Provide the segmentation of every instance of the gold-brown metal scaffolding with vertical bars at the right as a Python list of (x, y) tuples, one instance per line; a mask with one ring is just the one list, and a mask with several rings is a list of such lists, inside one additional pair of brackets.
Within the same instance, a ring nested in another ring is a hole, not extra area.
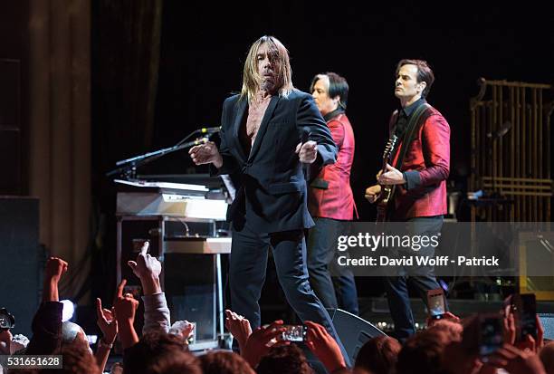
[(482, 207), (479, 217), (486, 221), (550, 221), (552, 86), (484, 78), (478, 84), (481, 90), (470, 101), (469, 187), (499, 201)]

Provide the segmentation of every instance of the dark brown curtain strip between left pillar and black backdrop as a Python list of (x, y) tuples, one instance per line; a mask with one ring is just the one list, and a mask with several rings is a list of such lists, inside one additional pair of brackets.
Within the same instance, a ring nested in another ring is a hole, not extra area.
[(116, 188), (105, 173), (121, 158), (156, 147), (161, 0), (92, 2), (93, 293), (110, 300), (116, 263)]

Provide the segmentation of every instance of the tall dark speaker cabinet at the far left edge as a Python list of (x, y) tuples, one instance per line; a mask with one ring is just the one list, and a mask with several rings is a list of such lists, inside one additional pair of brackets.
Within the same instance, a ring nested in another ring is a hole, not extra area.
[(31, 322), (39, 305), (39, 200), (0, 197), (0, 308), (15, 317), (14, 334), (31, 338)]

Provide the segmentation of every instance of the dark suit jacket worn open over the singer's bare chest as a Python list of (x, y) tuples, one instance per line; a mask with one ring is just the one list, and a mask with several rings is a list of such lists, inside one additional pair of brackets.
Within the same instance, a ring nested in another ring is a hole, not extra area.
[(265, 110), (260, 129), (249, 155), (244, 154), (239, 139), (240, 126), (247, 114), (248, 102), (234, 95), (224, 101), (221, 145), (223, 157), (220, 174), (238, 174), (242, 180), (227, 220), (235, 229), (248, 222), (260, 233), (309, 228), (306, 182), (301, 162), (294, 151), (304, 128), (310, 140), (318, 143), (318, 161), (335, 162), (337, 147), (325, 120), (311, 96), (294, 90), (288, 97), (273, 96)]

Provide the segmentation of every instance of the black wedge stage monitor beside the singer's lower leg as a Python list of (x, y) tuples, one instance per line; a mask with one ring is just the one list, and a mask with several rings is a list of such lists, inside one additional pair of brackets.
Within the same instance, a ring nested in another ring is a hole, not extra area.
[(352, 365), (356, 361), (358, 351), (366, 341), (377, 338), (377, 336), (387, 335), (357, 315), (341, 309), (328, 309), (327, 311)]

